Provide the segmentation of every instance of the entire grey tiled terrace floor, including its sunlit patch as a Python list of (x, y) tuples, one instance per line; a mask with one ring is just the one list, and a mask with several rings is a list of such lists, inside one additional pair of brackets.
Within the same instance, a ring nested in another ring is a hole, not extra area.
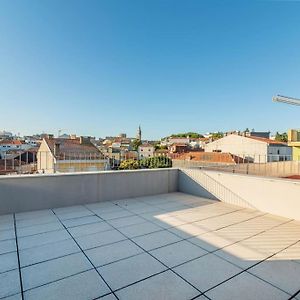
[(300, 299), (300, 223), (174, 193), (0, 217), (1, 299)]

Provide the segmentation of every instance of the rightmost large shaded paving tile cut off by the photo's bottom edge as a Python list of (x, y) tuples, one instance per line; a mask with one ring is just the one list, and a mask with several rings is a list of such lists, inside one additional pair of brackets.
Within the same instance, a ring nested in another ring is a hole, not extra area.
[(244, 272), (206, 293), (214, 300), (287, 300), (289, 295)]

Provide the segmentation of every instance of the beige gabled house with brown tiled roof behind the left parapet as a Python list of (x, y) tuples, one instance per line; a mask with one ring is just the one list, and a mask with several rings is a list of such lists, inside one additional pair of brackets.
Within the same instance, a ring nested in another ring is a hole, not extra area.
[(87, 137), (44, 138), (37, 152), (39, 173), (102, 171), (106, 165), (103, 154)]

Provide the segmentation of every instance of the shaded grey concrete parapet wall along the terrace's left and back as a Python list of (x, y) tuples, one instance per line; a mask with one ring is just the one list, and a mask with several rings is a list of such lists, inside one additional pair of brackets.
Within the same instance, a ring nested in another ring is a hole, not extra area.
[(0, 214), (177, 191), (177, 169), (0, 176)]

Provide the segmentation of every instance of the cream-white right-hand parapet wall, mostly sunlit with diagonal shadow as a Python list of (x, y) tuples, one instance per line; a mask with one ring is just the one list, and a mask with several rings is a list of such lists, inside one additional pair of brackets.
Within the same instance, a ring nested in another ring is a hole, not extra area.
[(300, 220), (299, 180), (182, 169), (179, 191), (188, 193), (189, 181), (201, 187), (192, 190), (195, 195), (206, 197), (209, 192), (223, 202)]

